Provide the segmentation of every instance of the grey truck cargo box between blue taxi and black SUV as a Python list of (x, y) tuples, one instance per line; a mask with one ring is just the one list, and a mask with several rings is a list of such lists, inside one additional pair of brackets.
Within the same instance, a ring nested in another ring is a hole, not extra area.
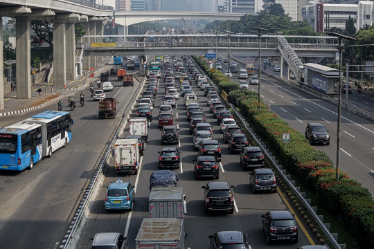
[(150, 218), (183, 218), (183, 187), (154, 187), (148, 204)]

